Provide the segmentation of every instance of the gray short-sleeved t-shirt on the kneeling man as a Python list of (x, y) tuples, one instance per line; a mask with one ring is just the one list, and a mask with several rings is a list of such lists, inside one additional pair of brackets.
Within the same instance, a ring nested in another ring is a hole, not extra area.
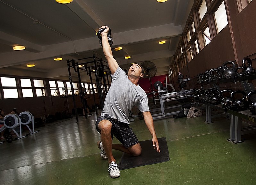
[(113, 119), (129, 124), (129, 113), (134, 106), (137, 106), (141, 112), (149, 111), (145, 91), (133, 84), (120, 67), (111, 76), (113, 79), (101, 116), (109, 115)]

